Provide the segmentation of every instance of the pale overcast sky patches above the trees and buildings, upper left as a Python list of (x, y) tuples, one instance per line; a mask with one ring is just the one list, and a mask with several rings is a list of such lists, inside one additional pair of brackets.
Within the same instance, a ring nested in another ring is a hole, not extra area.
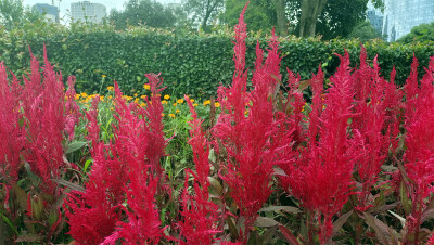
[[(82, 0), (80, 0), (82, 1)], [(112, 9), (117, 9), (117, 10), (122, 10), (124, 3), (127, 0), (90, 0), (90, 2), (95, 2), (95, 3), (102, 3), (107, 8), (107, 14), (110, 13), (110, 11)], [(61, 9), (61, 16), (64, 15), (69, 15), (68, 14), (68, 10), (71, 9), (71, 3), (72, 2), (78, 2), (78, 0), (61, 0), (59, 3), (59, 0), (54, 0), (54, 5), (59, 7), (60, 4), (60, 9)], [(167, 3), (171, 3), (171, 2), (177, 2), (180, 3), (181, 0), (157, 0), (157, 2), (161, 2), (163, 4), (167, 4)], [(30, 5), (33, 7), (36, 3), (49, 3), (52, 4), (53, 0), (24, 0), (23, 1), (24, 5)]]

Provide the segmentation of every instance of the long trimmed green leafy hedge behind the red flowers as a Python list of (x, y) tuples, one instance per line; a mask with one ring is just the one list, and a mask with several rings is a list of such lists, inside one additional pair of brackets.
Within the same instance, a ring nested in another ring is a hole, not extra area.
[[(28, 67), (28, 46), (40, 59), (46, 43), (49, 60), (64, 77), (76, 76), (79, 91), (100, 92), (119, 82), (126, 93), (143, 90), (143, 74), (162, 73), (166, 91), (174, 95), (184, 93), (209, 98), (216, 88), (231, 81), (233, 44), (230, 35), (175, 35), (168, 30), (135, 28), (119, 33), (110, 26), (27, 26), (7, 33), (0, 30), (0, 61), (9, 69), (23, 75)], [(263, 48), (267, 38), (259, 38)], [(246, 64), (253, 69), (256, 39), (247, 41)], [(383, 75), (395, 65), (397, 83), (403, 85), (409, 74), (413, 53), (423, 66), (434, 55), (434, 48), (421, 43), (398, 44), (376, 40), (366, 43), (369, 59), (379, 55)], [(315, 38), (281, 40), (284, 55), (282, 74), (286, 67), (308, 79), (321, 63), (327, 76), (334, 73), (339, 59), (333, 53), (348, 50), (354, 65), (358, 61), (360, 43), (357, 40), (320, 41)], [(41, 60), (41, 59), (40, 59)], [(107, 76), (102, 78), (102, 75)], [(103, 82), (103, 83), (102, 83)], [(129, 92), (128, 92), (129, 91)]]

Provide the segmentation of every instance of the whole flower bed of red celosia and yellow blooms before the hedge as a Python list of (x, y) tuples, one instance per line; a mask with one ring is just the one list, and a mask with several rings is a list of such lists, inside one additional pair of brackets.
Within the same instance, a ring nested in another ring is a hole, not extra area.
[(286, 79), (272, 35), (248, 76), (244, 11), (216, 101), (154, 74), (131, 96), (76, 93), (47, 52), (20, 77), (1, 63), (0, 241), (433, 244), (434, 57), (401, 88), (363, 47)]

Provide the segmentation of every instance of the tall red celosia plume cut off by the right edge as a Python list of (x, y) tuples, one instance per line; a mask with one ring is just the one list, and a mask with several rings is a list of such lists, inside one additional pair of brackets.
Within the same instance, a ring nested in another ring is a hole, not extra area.
[(426, 74), (418, 86), (414, 57), (406, 92), (406, 146), (404, 154), (406, 171), (412, 182), (408, 183), (412, 199), (410, 217), (407, 218), (409, 233), (414, 232), (414, 244), (419, 242), (421, 216), (426, 206), (425, 198), (433, 192), (434, 182), (434, 57), (431, 57)]

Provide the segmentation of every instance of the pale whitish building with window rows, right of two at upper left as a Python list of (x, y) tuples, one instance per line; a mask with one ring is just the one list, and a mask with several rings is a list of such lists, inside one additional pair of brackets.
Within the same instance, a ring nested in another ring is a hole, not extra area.
[(101, 23), (107, 15), (104, 4), (90, 1), (71, 3), (71, 15), (73, 21)]

